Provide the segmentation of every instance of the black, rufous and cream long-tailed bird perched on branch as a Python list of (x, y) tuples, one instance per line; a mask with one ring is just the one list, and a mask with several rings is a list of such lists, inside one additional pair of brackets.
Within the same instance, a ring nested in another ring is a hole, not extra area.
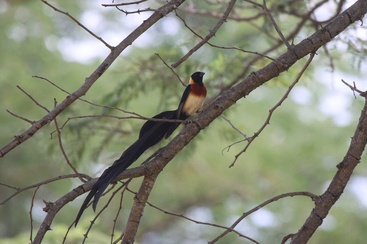
[[(181, 101), (177, 110), (164, 111), (153, 119), (167, 120), (186, 120), (191, 115), (199, 111), (203, 106), (206, 98), (206, 87), (203, 84), (204, 72), (195, 72), (190, 76), (189, 85), (183, 92)], [(98, 181), (93, 185), (91, 191), (87, 195), (80, 207), (79, 213), (75, 219), (75, 227), (79, 222), (81, 215), (86, 209), (88, 203), (94, 197), (92, 205), (95, 211), (99, 198), (102, 196), (108, 185), (133, 162), (135, 162), (149, 147), (159, 143), (163, 138), (167, 139), (172, 132), (177, 129), (179, 122), (169, 121), (146, 121), (139, 132), (139, 138), (128, 149), (126, 149), (121, 157), (113, 162), (112, 166), (107, 168), (99, 177)]]

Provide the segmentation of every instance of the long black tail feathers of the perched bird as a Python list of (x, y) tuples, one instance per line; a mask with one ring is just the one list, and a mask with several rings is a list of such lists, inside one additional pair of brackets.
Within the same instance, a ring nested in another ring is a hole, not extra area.
[[(154, 119), (174, 119), (176, 110), (165, 111), (159, 115), (154, 116)], [(81, 214), (86, 209), (88, 203), (94, 197), (93, 210), (95, 211), (97, 203), (108, 185), (116, 178), (121, 172), (127, 169), (133, 162), (135, 162), (149, 147), (154, 146), (160, 142), (167, 134), (168, 129), (171, 127), (171, 122), (151, 121), (148, 120), (142, 126), (139, 133), (139, 139), (134, 142), (119, 159), (117, 159), (112, 166), (106, 169), (99, 177), (98, 181), (93, 185), (88, 196), (84, 200), (80, 207), (79, 213), (75, 219), (75, 226), (77, 225)], [(178, 125), (177, 125), (178, 126)], [(177, 128), (177, 127), (176, 127)]]

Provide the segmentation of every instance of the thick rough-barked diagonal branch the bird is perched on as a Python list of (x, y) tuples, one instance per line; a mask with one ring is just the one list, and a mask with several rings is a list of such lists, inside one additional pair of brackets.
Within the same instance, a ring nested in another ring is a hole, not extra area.
[[(172, 1), (170, 3), (172, 3)], [(175, 5), (175, 7), (177, 6)], [(168, 4), (167, 8), (172, 9), (173, 6)], [(317, 31), (310, 37), (301, 41), (299, 44), (292, 46), (290, 50), (287, 50), (283, 55), (278, 57), (277, 60), (281, 60), (282, 63), (287, 64), (287, 67), (291, 67), (294, 63), (297, 62), (297, 60), (312, 52), (316, 52), (317, 49), (319, 49), (321, 46), (323, 46), (339, 33), (341, 33), (346, 27), (348, 27), (355, 21), (360, 20), (362, 16), (366, 14), (366, 12), (367, 4), (365, 4), (365, 0), (358, 0), (355, 4), (350, 6), (347, 10), (342, 12), (333, 21), (326, 25), (323, 29)], [(152, 16), (154, 15), (158, 14), (155, 12)], [(159, 16), (157, 16), (157, 19), (161, 18), (158, 17)], [(147, 20), (144, 23), (150, 23), (150, 20)], [(119, 49), (120, 46), (117, 46), (116, 48)], [(96, 70), (91, 77), (93, 78), (97, 76), (98, 78), (109, 66), (108, 60), (112, 58), (113, 57), (109, 56), (100, 66), (102, 67), (101, 70)], [(101, 71), (102, 73), (98, 73), (98, 71)], [(150, 179), (145, 180), (145, 183), (149, 183), (149, 181), (152, 182), (152, 180), (154, 180), (153, 176), (156, 176), (164, 168), (164, 166), (166, 166), (168, 162), (171, 161), (171, 159), (183, 149), (184, 146), (186, 146), (197, 134), (199, 134), (201, 129), (207, 127), (214, 119), (221, 115), (221, 113), (223, 113), (226, 109), (235, 104), (236, 101), (250, 94), (251, 91), (261, 86), (268, 80), (279, 76), (279, 74), (284, 71), (286, 71), (286, 68), (284, 68), (283, 65), (277, 65), (277, 63), (273, 61), (270, 64), (266, 65), (264, 68), (258, 70), (257, 72), (251, 73), (245, 80), (232, 87), (228, 91), (225, 91), (221, 95), (221, 97), (219, 97), (210, 106), (208, 106), (208, 108), (205, 109), (204, 112), (201, 112), (200, 115), (195, 120), (193, 120), (193, 123), (187, 125), (183, 129), (183, 131), (181, 131), (181, 133), (173, 138), (171, 142), (168, 143), (168, 145), (155, 156), (155, 158), (137, 168), (125, 170), (118, 177), (116, 177), (115, 181), (126, 179), (127, 177), (131, 178), (144, 175), (150, 177)], [(92, 85), (90, 84), (90, 82), (93, 83), (95, 81), (91, 81), (89, 79), (91, 78), (87, 78), (86, 84), (83, 85), (83, 87), (81, 87), (81, 89), (79, 90), (82, 90), (84, 86)], [(83, 91), (79, 90), (77, 94), (80, 94), (80, 92), (81, 94), (83, 94)], [(73, 98), (75, 101), (77, 99), (77, 96), (71, 96), (69, 99)], [(339, 168), (341, 167), (342, 165)], [(62, 196), (56, 202), (49, 203), (47, 206), (47, 210), (52, 211), (47, 212), (47, 215), (43, 220), (39, 232), (37, 233), (33, 243), (40, 243), (40, 241), (43, 239), (44, 234), (47, 232), (47, 230), (50, 229), (53, 218), (65, 204), (74, 200), (77, 196), (80, 196), (84, 192), (89, 191), (96, 181), (97, 179), (90, 180), (87, 183), (73, 189), (68, 194)], [(147, 190), (150, 191), (151, 189)]]

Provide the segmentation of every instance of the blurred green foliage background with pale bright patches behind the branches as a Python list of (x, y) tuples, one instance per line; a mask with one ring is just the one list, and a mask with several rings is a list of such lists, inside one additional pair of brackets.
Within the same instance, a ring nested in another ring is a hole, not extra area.
[[(110, 45), (117, 45), (151, 14), (142, 12), (141, 15), (125, 16), (116, 8), (102, 7), (101, 3), (58, 1), (52, 4), (69, 12)], [(305, 8), (308, 7), (307, 3), (297, 2), (299, 7)], [(268, 5), (272, 4), (275, 3), (269, 1)], [(277, 1), (277, 4), (279, 9), (274, 10), (273, 15), (281, 30), (287, 33), (294, 28), (296, 18), (282, 13), (280, 7), (282, 4), (287, 6), (287, 1)], [(155, 8), (159, 4), (146, 6)], [(236, 3), (235, 7), (239, 6), (249, 4)], [(138, 8), (135, 7), (130, 7), (130, 10)], [(225, 9), (203, 2), (197, 8), (219, 13)], [(245, 8), (243, 11), (246, 15), (254, 9)], [(202, 36), (218, 21), (215, 18), (178, 13)], [(275, 43), (265, 33), (276, 36), (271, 24), (264, 19), (259, 18), (252, 25), (229, 20), (210, 42), (262, 52)], [(336, 165), (348, 150), (350, 137), (354, 134), (363, 108), (363, 98), (357, 96), (355, 99), (352, 91), (340, 81), (344, 79), (351, 84), (356, 81), (357, 88), (366, 90), (366, 83), (362, 81), (367, 70), (365, 55), (363, 52), (356, 53), (346, 42), (350, 38), (356, 44), (363, 43), (363, 37), (357, 34), (358, 30), (363, 32), (366, 29), (359, 27), (354, 30), (357, 26), (359, 23), (327, 44), (328, 52), (333, 57), (334, 70), (325, 50), (318, 51), (288, 99), (273, 113), (270, 125), (239, 157), (234, 167), (228, 168), (235, 155), (245, 146), (244, 142), (233, 145), (229, 151), (224, 150), (222, 153), (222, 150), (243, 137), (226, 121), (218, 118), (164, 168), (149, 202), (198, 221), (230, 226), (242, 213), (274, 196), (295, 191), (322, 194), (337, 170)], [(294, 43), (297, 44), (314, 31), (313, 27), (305, 27), (294, 37)], [(353, 33), (357, 33), (356, 36)], [(176, 109), (184, 87), (155, 53), (159, 53), (170, 65), (199, 41), (171, 13), (126, 49), (82, 98), (97, 104), (118, 106), (147, 117)], [(275, 58), (285, 51), (286, 47), (282, 46), (269, 56)], [(53, 11), (41, 1), (0, 0), (0, 53), (0, 146), (3, 147), (14, 135), (30, 127), (30, 124), (7, 113), (6, 109), (32, 121), (47, 114), (17, 85), (51, 110), (54, 98), (61, 102), (66, 93), (32, 76), (47, 78), (62, 89), (73, 92), (98, 67), (109, 49), (68, 17)], [(175, 72), (186, 83), (193, 72), (206, 72), (203, 81), (207, 86), (207, 97), (212, 98), (221, 87), (241, 73), (252, 57), (253, 54), (238, 50), (206, 45), (176, 68)], [(306, 59), (300, 60), (287, 72), (239, 100), (225, 111), (224, 116), (244, 134), (252, 136), (265, 122), (269, 109), (281, 99), (305, 62)], [(248, 74), (268, 63), (267, 59), (257, 61)], [(128, 116), (116, 110), (76, 101), (57, 117), (57, 121), (61, 126), (68, 117), (97, 114)], [(142, 120), (107, 117), (70, 120), (61, 131), (63, 146), (80, 173), (98, 177), (137, 139), (143, 123)], [(178, 131), (180, 129), (182, 127)], [(59, 149), (57, 134), (50, 135), (54, 130), (52, 121), (49, 126), (43, 127), (32, 138), (0, 158), (0, 182), (22, 188), (52, 177), (72, 174)], [(156, 149), (166, 144), (167, 140), (146, 151), (132, 167), (141, 164)], [(365, 242), (365, 162), (366, 157), (363, 156), (344, 194), (309, 243)], [(129, 188), (138, 191), (140, 183), (140, 178), (134, 179)], [(45, 216), (42, 200), (54, 202), (78, 185), (80, 181), (77, 179), (64, 179), (38, 189), (32, 211), (33, 237)], [(0, 206), (1, 243), (30, 242), (28, 212), (33, 191), (21, 192)], [(0, 185), (0, 201), (14, 192), (14, 189)], [(80, 196), (62, 208), (43, 243), (62, 243), (84, 197)], [(116, 221), (116, 236), (125, 228), (133, 197), (134, 194), (129, 192), (124, 194), (123, 209)], [(86, 243), (109, 243), (119, 198), (120, 194), (117, 194), (109, 208), (97, 219)], [(97, 211), (107, 200), (106, 197), (101, 199)], [(313, 202), (305, 196), (280, 199), (249, 215), (236, 230), (260, 243), (281, 243), (284, 236), (296, 233), (301, 228), (313, 206)], [(66, 243), (81, 243), (94, 216), (92, 210), (87, 209), (78, 227), (70, 230)], [(223, 231), (146, 206), (135, 243), (207, 243)], [(218, 243), (250, 241), (229, 233)]]

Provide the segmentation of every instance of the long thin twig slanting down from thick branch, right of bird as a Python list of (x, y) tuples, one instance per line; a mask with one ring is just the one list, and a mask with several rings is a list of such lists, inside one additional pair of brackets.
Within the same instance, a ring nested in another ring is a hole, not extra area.
[(262, 127), (257, 131), (255, 132), (255, 134), (253, 136), (250, 137), (249, 140), (247, 140), (247, 145), (245, 146), (245, 148), (240, 151), (240, 153), (238, 153), (236, 156), (235, 156), (235, 160), (233, 160), (232, 164), (229, 166), (232, 167), (233, 165), (235, 165), (235, 162), (237, 161), (237, 158), (242, 154), (244, 153), (248, 146), (250, 146), (251, 142), (254, 141), (255, 138), (257, 138), (257, 136), (262, 132), (262, 130), (266, 127), (266, 125), (270, 124), (269, 121), (270, 121), (270, 117), (272, 116), (274, 110), (276, 108), (278, 108), (282, 102), (284, 100), (286, 100), (286, 98), (288, 97), (288, 94), (291, 92), (292, 88), (296, 85), (296, 83), (298, 82), (298, 80), (301, 78), (302, 74), (305, 72), (306, 68), (308, 67), (308, 65), (311, 63), (313, 57), (315, 56), (315, 53), (311, 53), (310, 54), (310, 57), (309, 59), (307, 60), (306, 64), (304, 65), (304, 67), (302, 68), (301, 72), (299, 72), (297, 78), (294, 80), (294, 82), (289, 86), (288, 90), (286, 91), (286, 93), (284, 94), (284, 96), (281, 98), (281, 100), (272, 108), (269, 110), (269, 115), (268, 115), (268, 118), (266, 119), (265, 123), (262, 125)]

